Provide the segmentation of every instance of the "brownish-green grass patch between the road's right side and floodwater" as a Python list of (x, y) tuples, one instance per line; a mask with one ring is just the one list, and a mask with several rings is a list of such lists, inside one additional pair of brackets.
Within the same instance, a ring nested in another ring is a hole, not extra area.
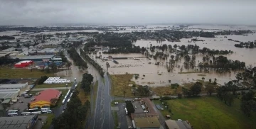
[(114, 74), (110, 75), (112, 80), (112, 88), (111, 94), (112, 96), (123, 96), (125, 91), (125, 96), (133, 97), (132, 94), (132, 86), (129, 84), (135, 84), (135, 82), (131, 81), (132, 74)]

